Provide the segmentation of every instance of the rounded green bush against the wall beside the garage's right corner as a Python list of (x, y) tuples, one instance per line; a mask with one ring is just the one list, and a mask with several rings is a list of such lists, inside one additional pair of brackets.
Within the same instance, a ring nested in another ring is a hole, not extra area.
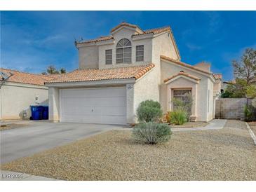
[(156, 122), (162, 114), (161, 105), (153, 100), (141, 102), (137, 108), (137, 118), (140, 122)]

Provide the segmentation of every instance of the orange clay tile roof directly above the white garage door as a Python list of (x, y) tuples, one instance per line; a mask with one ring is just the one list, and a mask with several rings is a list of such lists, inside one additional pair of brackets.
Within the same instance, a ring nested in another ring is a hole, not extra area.
[(78, 81), (100, 81), (108, 79), (135, 78), (138, 79), (152, 69), (154, 64), (134, 67), (116, 67), (109, 69), (76, 69), (68, 74), (46, 83), (65, 83)]

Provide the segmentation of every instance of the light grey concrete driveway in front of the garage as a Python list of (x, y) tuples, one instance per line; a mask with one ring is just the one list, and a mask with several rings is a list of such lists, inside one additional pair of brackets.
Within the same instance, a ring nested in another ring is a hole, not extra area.
[(107, 130), (122, 129), (121, 125), (86, 123), (50, 123), (48, 121), (16, 121), (12, 123), (27, 123), (28, 125), (25, 128), (2, 130), (0, 132), (0, 163), (31, 156), (34, 153), (90, 137)]

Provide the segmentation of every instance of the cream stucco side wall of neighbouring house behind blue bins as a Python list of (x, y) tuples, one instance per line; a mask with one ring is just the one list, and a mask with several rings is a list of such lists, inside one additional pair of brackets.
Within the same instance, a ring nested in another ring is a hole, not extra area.
[[(38, 102), (35, 97), (39, 96)], [(20, 83), (6, 83), (1, 86), (1, 116), (2, 120), (20, 119), (22, 111), (31, 116), (30, 105), (48, 105), (48, 88), (44, 86), (25, 85)]]

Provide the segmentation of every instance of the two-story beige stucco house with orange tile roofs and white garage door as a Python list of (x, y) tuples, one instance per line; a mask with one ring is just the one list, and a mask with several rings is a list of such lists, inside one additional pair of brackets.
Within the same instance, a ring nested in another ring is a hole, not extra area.
[(49, 120), (126, 124), (136, 122), (144, 100), (173, 110), (173, 98), (193, 97), (192, 121), (210, 121), (220, 75), (210, 64), (180, 61), (170, 27), (140, 29), (121, 22), (109, 36), (76, 42), (79, 69), (48, 81)]

